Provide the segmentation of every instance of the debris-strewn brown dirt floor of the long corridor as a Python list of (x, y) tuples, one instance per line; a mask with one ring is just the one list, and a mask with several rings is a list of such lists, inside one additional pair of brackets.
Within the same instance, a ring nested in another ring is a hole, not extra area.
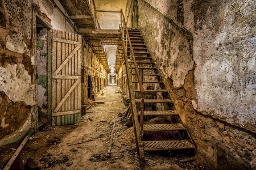
[[(133, 127), (127, 128), (118, 117), (127, 108), (119, 88), (109, 86), (96, 99), (105, 103), (94, 104), (78, 124), (47, 124), (33, 134), (19, 154), (22, 166), (32, 159), (39, 169), (140, 169)], [(113, 145), (108, 154), (114, 122)], [(20, 142), (0, 147), (0, 169), (19, 145)], [(205, 169), (197, 161), (180, 163), (191, 157), (174, 152), (146, 152), (144, 169)]]

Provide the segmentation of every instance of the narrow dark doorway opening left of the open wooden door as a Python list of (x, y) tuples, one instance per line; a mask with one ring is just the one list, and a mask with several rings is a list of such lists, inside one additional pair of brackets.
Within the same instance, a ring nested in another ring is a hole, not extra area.
[(51, 118), (51, 27), (38, 15), (35, 16), (36, 44), (36, 100), (38, 126), (45, 124)]

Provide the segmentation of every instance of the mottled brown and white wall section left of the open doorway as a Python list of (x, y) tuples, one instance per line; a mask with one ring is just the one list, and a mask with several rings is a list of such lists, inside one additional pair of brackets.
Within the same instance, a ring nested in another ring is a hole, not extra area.
[(31, 127), (35, 103), (31, 6), (31, 1), (0, 2), (1, 139), (12, 140), (18, 130), (24, 135)]

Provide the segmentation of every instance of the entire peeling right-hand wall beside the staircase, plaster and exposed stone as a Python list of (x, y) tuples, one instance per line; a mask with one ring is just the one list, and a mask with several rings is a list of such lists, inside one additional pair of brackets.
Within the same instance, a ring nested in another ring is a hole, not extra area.
[(255, 1), (139, 1), (139, 29), (209, 169), (256, 168)]

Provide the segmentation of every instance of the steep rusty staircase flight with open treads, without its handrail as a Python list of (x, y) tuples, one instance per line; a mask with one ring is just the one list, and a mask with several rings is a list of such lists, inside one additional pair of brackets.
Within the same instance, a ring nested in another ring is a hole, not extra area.
[[(195, 146), (181, 121), (179, 114), (172, 110), (173, 101), (164, 88), (155, 62), (148, 52), (144, 39), (138, 29), (128, 29), (135, 61), (139, 70), (139, 76), (145, 89), (145, 99), (141, 99), (138, 75), (130, 46), (127, 45), (127, 58), (130, 59), (131, 83), (133, 83), (135, 103), (140, 124), (141, 141), (144, 151), (161, 150), (191, 150), (195, 152)], [(127, 36), (125, 34), (125, 36)], [(161, 95), (162, 94), (162, 95)], [(142, 108), (143, 107), (143, 108)], [(164, 108), (164, 109), (163, 109)], [(161, 110), (159, 110), (161, 109)], [(165, 117), (164, 122), (148, 120), (150, 118)], [(150, 123), (148, 123), (150, 122)], [(158, 135), (156, 135), (156, 132)]]

